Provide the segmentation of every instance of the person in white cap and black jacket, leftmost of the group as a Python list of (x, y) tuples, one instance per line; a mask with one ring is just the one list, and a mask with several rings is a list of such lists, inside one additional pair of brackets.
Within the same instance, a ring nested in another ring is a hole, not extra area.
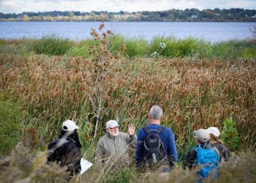
[(48, 145), (48, 162), (57, 162), (60, 166), (67, 166), (70, 175), (77, 174), (81, 170), (80, 148), (82, 145), (76, 133), (78, 129), (79, 127), (73, 120), (65, 120), (60, 136)]

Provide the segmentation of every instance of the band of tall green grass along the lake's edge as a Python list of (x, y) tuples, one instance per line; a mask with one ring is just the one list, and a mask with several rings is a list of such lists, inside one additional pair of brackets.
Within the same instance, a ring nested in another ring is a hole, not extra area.
[[(192, 59), (255, 59), (256, 44), (254, 40), (228, 40), (210, 43), (193, 37), (177, 39), (176, 37), (154, 37), (150, 42), (143, 37), (125, 38), (121, 34), (108, 37), (108, 47), (112, 53), (118, 52), (125, 43), (124, 55), (129, 58), (164, 56), (167, 58), (190, 57)], [(160, 43), (166, 45), (160, 48)], [(1, 40), (2, 53), (16, 55), (46, 54), (49, 56), (82, 56), (89, 58), (89, 47), (93, 39), (74, 42), (59, 37), (57, 34), (44, 35), (39, 40)]]

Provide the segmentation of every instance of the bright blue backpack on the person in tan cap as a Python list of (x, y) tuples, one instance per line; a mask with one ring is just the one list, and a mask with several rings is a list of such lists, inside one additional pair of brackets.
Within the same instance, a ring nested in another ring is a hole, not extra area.
[(209, 173), (214, 170), (214, 177), (217, 178), (219, 170), (219, 156), (215, 150), (211, 147), (209, 147), (209, 149), (203, 149), (201, 146), (195, 147), (194, 149), (197, 152), (194, 163), (197, 163), (198, 166), (202, 166), (202, 169), (200, 169), (199, 172), (196, 172), (196, 174), (206, 178)]

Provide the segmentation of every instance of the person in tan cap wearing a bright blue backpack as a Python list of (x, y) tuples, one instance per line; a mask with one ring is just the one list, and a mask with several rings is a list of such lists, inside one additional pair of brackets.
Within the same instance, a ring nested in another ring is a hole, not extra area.
[(196, 174), (205, 178), (213, 169), (219, 169), (219, 151), (209, 145), (209, 132), (207, 130), (193, 131), (193, 135), (196, 140), (196, 147), (187, 153), (185, 166), (192, 169), (196, 165), (202, 165), (203, 168)]

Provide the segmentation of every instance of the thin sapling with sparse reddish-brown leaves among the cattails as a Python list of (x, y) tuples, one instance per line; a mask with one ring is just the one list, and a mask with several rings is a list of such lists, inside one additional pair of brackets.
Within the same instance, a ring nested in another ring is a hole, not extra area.
[(104, 27), (104, 21), (101, 21), (99, 32), (95, 29), (91, 30), (91, 35), (94, 37), (94, 45), (89, 47), (90, 61), (92, 64), (90, 64), (90, 68), (86, 68), (87, 71), (89, 69), (90, 79), (83, 77), (83, 71), (80, 67), (80, 75), (83, 79), (83, 83), (87, 86), (91, 86), (85, 89), (96, 117), (94, 138), (96, 138), (99, 118), (102, 114), (102, 104), (108, 95), (109, 87), (106, 86), (111, 85), (109, 81), (114, 78), (116, 67), (113, 67), (113, 65), (120, 58), (120, 54), (125, 51), (125, 44), (122, 44), (121, 49), (118, 50), (115, 55), (112, 54), (110, 49), (111, 39), (108, 39), (108, 37), (112, 36), (112, 32), (110, 30), (106, 32), (102, 31)]

